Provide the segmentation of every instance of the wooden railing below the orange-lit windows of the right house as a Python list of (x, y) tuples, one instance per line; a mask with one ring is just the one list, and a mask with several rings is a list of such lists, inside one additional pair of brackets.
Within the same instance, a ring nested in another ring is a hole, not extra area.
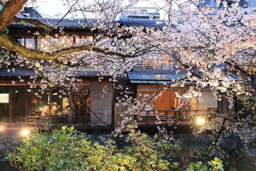
[(209, 114), (213, 111), (199, 110), (151, 110), (145, 111), (139, 115), (138, 124), (191, 124), (196, 122), (198, 118), (203, 119), (204, 123), (208, 123), (213, 117)]

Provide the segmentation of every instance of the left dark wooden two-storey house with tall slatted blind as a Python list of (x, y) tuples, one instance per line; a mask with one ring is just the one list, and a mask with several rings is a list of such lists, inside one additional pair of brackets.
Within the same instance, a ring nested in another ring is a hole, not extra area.
[[(28, 12), (26, 16), (36, 14), (36, 17), (40, 18), (39, 14), (31, 10), (25, 9)], [(80, 41), (93, 41), (93, 33), (89, 28), (82, 27), (78, 20), (39, 20), (41, 23), (51, 26), (58, 23), (58, 27), (63, 28), (66, 37), (74, 44), (79, 44)], [(47, 44), (44, 32), (31, 24), (14, 22), (8, 30), (9, 35), (28, 48), (36, 50), (39, 41)], [(40, 38), (33, 34), (35, 32), (40, 33)], [(76, 36), (74, 36), (74, 33), (76, 33)], [(53, 30), (50, 39), (56, 40), (56, 34), (59, 34), (59, 30)], [(61, 36), (58, 36), (58, 38)], [(26, 66), (10, 64), (10, 70), (0, 69), (0, 125), (9, 128), (35, 128), (43, 127), (47, 121), (53, 127), (74, 125), (82, 129), (92, 129), (96, 126), (102, 129), (112, 128), (114, 122), (112, 116), (114, 112), (112, 82), (108, 81), (107, 76), (102, 77), (101, 82), (99, 82), (99, 70), (86, 66), (80, 68), (82, 69), (77, 70), (75, 75), (82, 81), (77, 82), (80, 89), (76, 91), (77, 95), (75, 96), (70, 94), (65, 96), (60, 93), (58, 88), (50, 86), (47, 86), (44, 93), (41, 93), (40, 86), (42, 84), (40, 81), (33, 82), (30, 79), (35, 75), (35, 71)], [(81, 119), (80, 116), (74, 114), (74, 111), (70, 110), (69, 106), (76, 106), (78, 101), (86, 104), (87, 118)], [(53, 111), (51, 111), (51, 115), (42, 118), (42, 109), (47, 103), (56, 103), (57, 112), (53, 114)]]

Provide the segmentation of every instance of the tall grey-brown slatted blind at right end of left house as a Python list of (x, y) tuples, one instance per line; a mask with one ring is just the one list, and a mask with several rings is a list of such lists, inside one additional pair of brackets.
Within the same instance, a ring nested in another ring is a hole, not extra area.
[(92, 126), (112, 124), (112, 84), (109, 81), (92, 81)]

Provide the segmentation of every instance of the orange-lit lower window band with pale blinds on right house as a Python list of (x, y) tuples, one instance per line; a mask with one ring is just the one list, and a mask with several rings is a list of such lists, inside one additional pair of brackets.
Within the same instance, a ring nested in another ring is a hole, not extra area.
[[(137, 99), (141, 102), (148, 102), (154, 94), (157, 93), (158, 86), (144, 86), (138, 85), (137, 89)], [(188, 102), (185, 106), (181, 106), (182, 101), (180, 98), (176, 97), (175, 91), (178, 90), (162, 90), (161, 96), (158, 96), (157, 99), (153, 98), (144, 108), (144, 112), (140, 114), (141, 117), (150, 115), (154, 116), (154, 113), (157, 113), (159, 116), (163, 115), (189, 115), (193, 114), (205, 114), (205, 111), (216, 111), (218, 104), (217, 99), (212, 94), (212, 91), (202, 91), (203, 101), (198, 99), (192, 99), (191, 103)], [(179, 94), (182, 95), (184, 91), (179, 91)], [(145, 97), (144, 94), (149, 95)], [(144, 95), (144, 96), (143, 96)], [(178, 109), (178, 107), (180, 107)], [(178, 109), (178, 110), (176, 110)]]

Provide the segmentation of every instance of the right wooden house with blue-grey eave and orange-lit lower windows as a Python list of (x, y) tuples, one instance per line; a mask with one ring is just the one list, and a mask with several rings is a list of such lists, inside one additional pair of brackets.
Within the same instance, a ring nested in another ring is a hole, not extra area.
[[(135, 95), (138, 101), (140, 99), (142, 101), (151, 99), (147, 104), (147, 110), (139, 114), (141, 117), (138, 120), (139, 124), (155, 124), (157, 121), (167, 125), (187, 125), (197, 121), (198, 118), (203, 119), (204, 122), (209, 121), (211, 119), (211, 117), (208, 117), (209, 113), (233, 113), (237, 110), (236, 103), (232, 108), (229, 108), (227, 99), (223, 98), (222, 101), (218, 101), (209, 87), (201, 90), (200, 100), (192, 99), (191, 103), (186, 103), (186, 105), (178, 108), (181, 104), (179, 95), (190, 89), (193, 83), (185, 81), (184, 86), (177, 84), (176, 86), (166, 87), (165, 85), (172, 82), (172, 80), (182, 78), (186, 71), (182, 71), (182, 68), (180, 68), (181, 71), (177, 74), (175, 66), (172, 66), (175, 62), (164, 60), (161, 64), (157, 64), (154, 57), (144, 59), (143, 64), (136, 65), (132, 71), (127, 73), (132, 86), (136, 87)], [(237, 79), (233, 74), (230, 74), (230, 77), (233, 80)], [(176, 92), (179, 92), (179, 95)], [(147, 98), (144, 96), (146, 94), (149, 95)], [(157, 94), (161, 94), (161, 96), (154, 98)], [(194, 115), (194, 117), (191, 117), (191, 115)]]

